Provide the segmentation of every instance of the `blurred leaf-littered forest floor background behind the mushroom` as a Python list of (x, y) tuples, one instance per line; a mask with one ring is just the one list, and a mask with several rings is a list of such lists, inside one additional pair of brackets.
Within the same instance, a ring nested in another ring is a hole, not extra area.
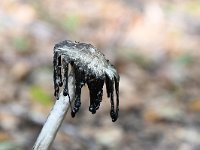
[(120, 116), (88, 89), (53, 150), (200, 149), (200, 0), (1, 0), (0, 150), (31, 149), (54, 104), (53, 47), (98, 47), (118, 69)]

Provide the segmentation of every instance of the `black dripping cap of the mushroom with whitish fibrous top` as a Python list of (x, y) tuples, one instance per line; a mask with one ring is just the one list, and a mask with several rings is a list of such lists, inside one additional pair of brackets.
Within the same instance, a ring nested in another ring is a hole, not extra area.
[[(106, 84), (107, 96), (110, 98), (112, 121), (116, 121), (119, 111), (119, 74), (97, 48), (91, 44), (60, 42), (54, 47), (54, 95), (58, 99), (59, 89), (63, 87), (63, 95), (68, 93), (69, 64), (75, 74), (75, 101), (71, 111), (72, 117), (81, 106), (81, 88), (87, 84), (90, 92), (89, 111), (92, 114), (99, 109), (103, 96), (103, 85)], [(114, 94), (114, 91), (116, 94)], [(114, 101), (116, 95), (116, 101)]]

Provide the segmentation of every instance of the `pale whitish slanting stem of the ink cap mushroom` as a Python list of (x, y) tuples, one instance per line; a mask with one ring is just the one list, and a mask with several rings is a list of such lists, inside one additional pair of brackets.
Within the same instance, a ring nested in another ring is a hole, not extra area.
[(33, 146), (33, 150), (48, 150), (56, 137), (58, 129), (69, 109), (69, 100), (74, 99), (74, 73), (72, 70), (69, 75), (68, 84), (69, 96), (63, 96), (63, 93), (60, 93), (59, 99), (56, 100), (47, 121)]

